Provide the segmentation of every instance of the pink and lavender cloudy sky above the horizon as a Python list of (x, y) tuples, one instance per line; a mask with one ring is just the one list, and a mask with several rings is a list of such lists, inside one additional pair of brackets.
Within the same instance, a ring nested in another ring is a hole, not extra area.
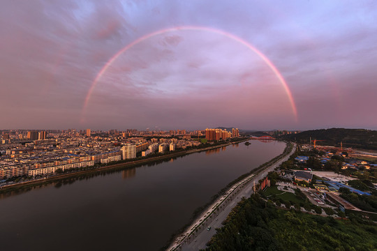
[(376, 1), (3, 1), (0, 129), (377, 129)]

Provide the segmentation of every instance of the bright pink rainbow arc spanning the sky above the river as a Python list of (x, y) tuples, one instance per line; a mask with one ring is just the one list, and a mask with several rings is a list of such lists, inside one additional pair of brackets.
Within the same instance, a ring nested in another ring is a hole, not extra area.
[(237, 37), (237, 36), (235, 36), (235, 35), (233, 35), (231, 33), (228, 33), (226, 31), (221, 31), (219, 29), (209, 28), (209, 27), (205, 27), (205, 26), (176, 26), (176, 27), (172, 27), (172, 28), (168, 28), (168, 29), (162, 29), (162, 30), (159, 30), (159, 31), (154, 31), (152, 33), (148, 33), (145, 36), (142, 36), (142, 37), (138, 38), (137, 40), (133, 41), (132, 43), (126, 45), (126, 47), (124, 47), (123, 49), (119, 50), (119, 52), (117, 52), (116, 54), (114, 54), (114, 56), (112, 56), (112, 58), (109, 59), (109, 61), (105, 63), (105, 66), (103, 66), (103, 68), (101, 68), (101, 70), (96, 75), (96, 78), (94, 79), (94, 81), (91, 84), (90, 89), (89, 89), (89, 91), (87, 93), (87, 97), (85, 98), (85, 102), (84, 102), (84, 107), (82, 109), (82, 113), (84, 114), (85, 110), (87, 109), (87, 105), (89, 103), (89, 100), (90, 100), (90, 97), (91, 97), (91, 93), (94, 91), (94, 88), (96, 87), (96, 84), (97, 84), (98, 80), (101, 79), (101, 77), (103, 76), (103, 74), (105, 74), (106, 70), (108, 70), (108, 68), (112, 65), (112, 63), (115, 60), (117, 60), (117, 58), (121, 54), (123, 54), (127, 50), (130, 50), (133, 46), (137, 45), (138, 43), (140, 43), (140, 42), (142, 42), (144, 40), (147, 40), (148, 38), (151, 38), (151, 37), (154, 37), (154, 36), (157, 36), (157, 35), (161, 35), (163, 33), (168, 33), (168, 32), (173, 32), (173, 31), (186, 31), (186, 30), (208, 31), (208, 32), (220, 34), (220, 35), (226, 36), (226, 37), (228, 37), (228, 38), (230, 38), (232, 40), (235, 40), (238, 43), (241, 43), (242, 45), (248, 47), (250, 50), (252, 50), (253, 52), (255, 52), (260, 57), (260, 59), (263, 59), (263, 61), (265, 61), (265, 63), (267, 64), (267, 66), (269, 66), (269, 68), (272, 70), (272, 72), (274, 73), (274, 75), (276, 75), (276, 77), (279, 79), (279, 82), (281, 82), (284, 91), (286, 91), (286, 94), (287, 94), (288, 99), (290, 101), (290, 106), (292, 107), (293, 114), (295, 115), (295, 119), (297, 121), (297, 108), (296, 108), (296, 105), (295, 105), (295, 101), (293, 100), (292, 93), (290, 92), (290, 89), (288, 87), (288, 84), (286, 83), (286, 80), (283, 78), (283, 76), (281, 75), (281, 73), (279, 72), (279, 70), (267, 58), (267, 56), (265, 56), (265, 54), (263, 54), (262, 52), (260, 52), (259, 50), (257, 50), (256, 47), (253, 47), (253, 45), (251, 45), (250, 43), (246, 42), (245, 40), (242, 40), (242, 38), (239, 38), (239, 37)]

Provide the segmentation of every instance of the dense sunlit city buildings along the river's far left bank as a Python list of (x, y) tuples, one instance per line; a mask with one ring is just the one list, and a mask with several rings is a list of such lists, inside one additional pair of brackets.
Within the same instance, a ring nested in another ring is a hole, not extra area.
[(238, 130), (3, 130), (0, 133), (0, 181), (58, 174), (68, 169), (186, 149), (202, 144), (204, 135), (209, 141), (228, 139), (237, 137)]

